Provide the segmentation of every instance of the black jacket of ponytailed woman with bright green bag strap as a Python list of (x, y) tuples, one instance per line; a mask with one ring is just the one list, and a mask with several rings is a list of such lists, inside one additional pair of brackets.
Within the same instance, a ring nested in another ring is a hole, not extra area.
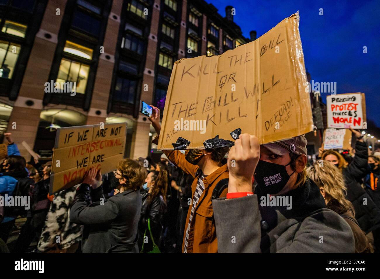
[[(150, 229), (154, 242), (160, 246), (162, 239), (162, 219), (166, 210), (166, 203), (161, 195), (154, 197), (149, 201), (149, 193), (146, 190), (140, 190), (142, 198), (141, 217), (139, 221), (139, 248), (141, 249), (144, 232), (148, 229), (148, 219), (150, 219)], [(144, 245), (144, 251), (152, 250), (152, 243), (150, 241), (149, 231), (147, 230), (148, 242)]]

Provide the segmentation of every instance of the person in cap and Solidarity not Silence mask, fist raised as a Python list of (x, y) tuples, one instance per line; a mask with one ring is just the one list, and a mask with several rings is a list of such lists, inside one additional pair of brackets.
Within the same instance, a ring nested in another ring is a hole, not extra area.
[[(260, 147), (255, 136), (239, 136), (228, 154), (227, 199), (213, 202), (218, 252), (355, 251), (347, 222), (325, 208), (318, 187), (306, 178), (306, 144), (299, 136)], [(292, 197), (291, 208), (264, 202), (277, 197)]]

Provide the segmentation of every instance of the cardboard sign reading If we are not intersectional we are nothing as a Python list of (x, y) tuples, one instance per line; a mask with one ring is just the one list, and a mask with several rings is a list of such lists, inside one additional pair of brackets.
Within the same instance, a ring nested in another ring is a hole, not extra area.
[(82, 182), (90, 167), (101, 173), (116, 170), (122, 161), (126, 123), (61, 128), (55, 136), (50, 194)]

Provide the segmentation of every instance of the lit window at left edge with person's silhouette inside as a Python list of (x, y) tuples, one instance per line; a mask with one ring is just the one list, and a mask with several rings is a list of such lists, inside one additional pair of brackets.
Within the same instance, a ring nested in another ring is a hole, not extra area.
[(21, 46), (7, 41), (0, 41), (0, 77), (11, 79)]

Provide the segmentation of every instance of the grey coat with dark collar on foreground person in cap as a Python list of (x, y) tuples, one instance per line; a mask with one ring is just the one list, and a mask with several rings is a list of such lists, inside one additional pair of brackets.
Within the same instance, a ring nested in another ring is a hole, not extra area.
[(326, 208), (313, 181), (285, 195), (292, 197), (291, 210), (261, 206), (260, 187), (255, 195), (213, 200), (218, 252), (355, 252), (350, 226)]

